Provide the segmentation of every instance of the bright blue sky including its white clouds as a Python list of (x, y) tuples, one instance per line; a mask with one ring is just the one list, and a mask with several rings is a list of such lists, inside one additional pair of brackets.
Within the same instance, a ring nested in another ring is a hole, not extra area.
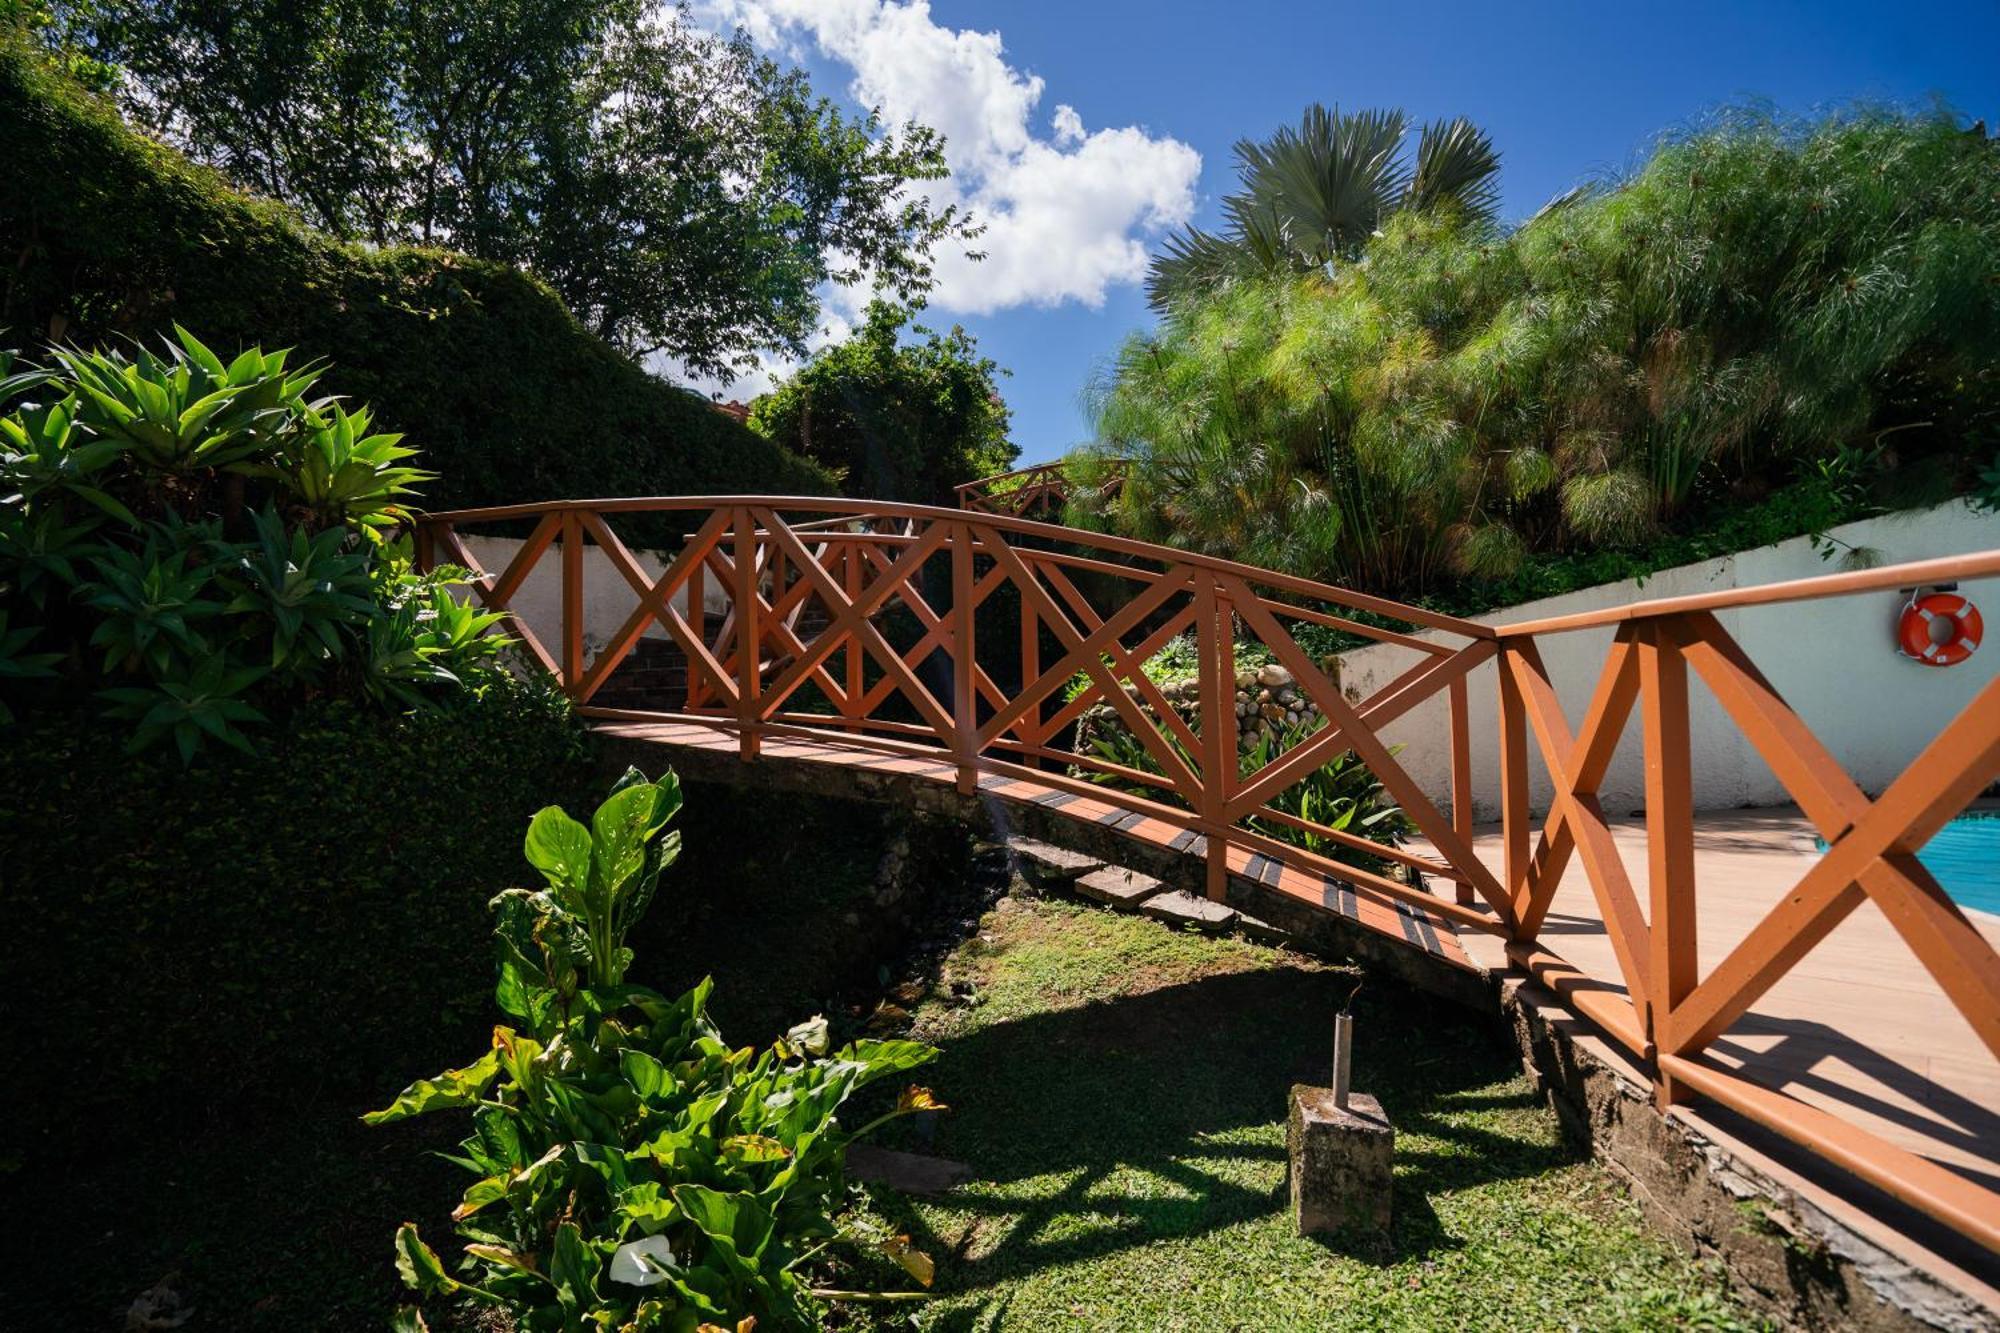
[[(1730, 102), (1810, 112), (1936, 94), (2000, 124), (1992, 0), (710, 0), (702, 16), (744, 24), (828, 96), (956, 130), (950, 188), (986, 204), (994, 256), (946, 268), (926, 322), (964, 324), (1012, 370), (1002, 392), (1024, 462), (1088, 438), (1084, 386), (1150, 322), (1140, 248), (1174, 218), (1214, 222), (1234, 184), (1230, 146), (1296, 120), (1306, 102), (1400, 106), (1418, 122), (1470, 116), (1500, 148), (1510, 218), (1632, 166), (1660, 130)], [(830, 302), (830, 336), (842, 304)]]

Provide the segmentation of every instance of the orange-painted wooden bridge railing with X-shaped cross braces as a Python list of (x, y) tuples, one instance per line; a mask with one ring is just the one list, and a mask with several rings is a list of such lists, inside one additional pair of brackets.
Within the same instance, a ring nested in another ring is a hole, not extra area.
[[(686, 532), (664, 556), (664, 572), (648, 572), (620, 540), (616, 528), (634, 518)], [(482, 568), (464, 540), (468, 528), (492, 524), (526, 534), (498, 570)], [(2000, 1193), (1758, 1083), (1754, 1061), (1730, 1065), (1708, 1051), (1844, 917), (1874, 901), (2000, 1059), (2000, 957), (1916, 859), (2000, 777), (2000, 679), (1870, 799), (1716, 616), (1726, 608), (2000, 574), (2000, 550), (1494, 628), (1118, 536), (886, 502), (562, 500), (432, 514), (420, 524), (418, 544), (426, 562), (472, 570), (478, 594), (510, 612), (512, 632), (584, 713), (592, 713), (592, 697), (640, 636), (660, 626), (688, 658), (686, 699), (668, 717), (732, 733), (744, 759), (754, 759), (766, 737), (918, 751), (956, 765), (966, 793), (990, 775), (1032, 777), (1200, 833), (1212, 897), (1226, 889), (1234, 847), (1420, 905), (1460, 931), (1504, 941), (1520, 969), (1652, 1073), (1662, 1107), (1712, 1099), (2000, 1253)], [(560, 568), (562, 624), (554, 642), (542, 642), (512, 614), (542, 560)], [(586, 642), (584, 632), (586, 560), (608, 560), (632, 594), (630, 614), (602, 642)], [(690, 614), (690, 606), (716, 614)], [(1300, 626), (1394, 642), (1414, 652), (1414, 664), (1374, 695), (1350, 699), (1332, 664), (1300, 644)], [(1572, 731), (1538, 644), (1606, 626), (1614, 638), (1604, 671)], [(1196, 662), (1192, 721), (1142, 671), (1174, 640)], [(1238, 765), (1234, 717), (1238, 652), (1246, 644), (1260, 644), (1260, 656), (1282, 664), (1326, 719), (1312, 739), (1250, 773)], [(1488, 660), (1496, 662), (1500, 689), (1498, 869), (1472, 851), (1466, 677)], [(1706, 977), (1696, 959), (1702, 885), (1694, 861), (1692, 679), (1716, 697), (1828, 843), (1826, 855)], [(1452, 729), (1448, 809), (1380, 739), (1382, 727), (1438, 695), (1448, 701)], [(1070, 725), (1098, 705), (1116, 709), (1154, 771), (1068, 749)], [(1596, 797), (1634, 709), (1646, 751), (1644, 891), (1612, 845)], [(1528, 811), (1530, 747), (1556, 789), (1540, 821)], [(1342, 751), (1354, 751), (1402, 805), (1428, 855), (1278, 809), (1290, 787)], [(1252, 819), (1258, 827), (1250, 827)], [(1270, 829), (1312, 835), (1328, 855), (1274, 839)], [(1366, 853), (1384, 869), (1352, 865), (1340, 857), (1344, 851)], [(1602, 913), (1616, 977), (1586, 975), (1544, 939), (1556, 887), (1572, 865)], [(1448, 889), (1432, 893), (1426, 879)]]

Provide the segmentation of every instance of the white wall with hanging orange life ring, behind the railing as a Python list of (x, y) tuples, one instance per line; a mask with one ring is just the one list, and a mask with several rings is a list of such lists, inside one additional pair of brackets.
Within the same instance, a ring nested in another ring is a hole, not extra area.
[[(1832, 536), (1880, 552), (1882, 562), (1922, 560), (2000, 548), (2000, 514), (1978, 512), (1962, 500), (1928, 510), (1864, 518), (1834, 528)], [(1808, 538), (1744, 550), (1704, 564), (1684, 564), (1636, 580), (1612, 582), (1524, 606), (1474, 616), (1486, 624), (1540, 620), (1578, 610), (1600, 610), (1660, 596), (1714, 592), (1788, 578), (1838, 572)], [(1960, 584), (1986, 616), (1988, 636), (2000, 636), (2000, 578)], [(1786, 703), (1832, 751), (1868, 793), (1878, 793), (1924, 749), (1958, 711), (2000, 673), (2000, 644), (1988, 642), (1958, 666), (1922, 666), (1896, 650), (1896, 618), (1904, 596), (1862, 592), (1816, 602), (1746, 606), (1720, 612)], [(1448, 638), (1428, 634), (1432, 638)], [(1574, 630), (1540, 638), (1542, 660), (1574, 729), (1612, 642), (1612, 628)], [(1416, 660), (1414, 648), (1376, 644), (1342, 656), (1342, 689), (1366, 697)], [(1498, 683), (1492, 662), (1470, 675), (1472, 783), (1480, 819), (1500, 815)], [(1698, 809), (1784, 805), (1790, 795), (1728, 721), (1706, 685), (1690, 675), (1694, 749), (1694, 803)], [(1644, 807), (1640, 711), (1632, 711), (1600, 795), (1608, 815)], [(1384, 729), (1400, 743), (1402, 765), (1440, 803), (1450, 795), (1450, 711), (1440, 691)], [(1530, 803), (1548, 809), (1552, 787), (1530, 733)]]

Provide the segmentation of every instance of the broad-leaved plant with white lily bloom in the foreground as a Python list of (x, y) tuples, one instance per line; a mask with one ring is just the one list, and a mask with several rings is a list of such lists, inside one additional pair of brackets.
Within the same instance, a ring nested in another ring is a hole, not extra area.
[[(936, 1057), (914, 1041), (854, 1041), (828, 1055), (814, 1019), (754, 1055), (710, 1023), (702, 981), (676, 1001), (630, 985), (628, 931), (680, 855), (666, 833), (680, 783), (636, 769), (588, 825), (544, 807), (526, 857), (546, 887), (494, 899), (500, 1009), (476, 1063), (412, 1083), (370, 1113), (388, 1125), (472, 1111), (456, 1161), (478, 1177), (454, 1209), (468, 1239), (446, 1273), (416, 1225), (396, 1267), (422, 1297), (508, 1311), (524, 1333), (814, 1323), (806, 1265), (842, 1229), (846, 1145), (874, 1125), (932, 1109), (910, 1089), (862, 1131), (834, 1119), (862, 1087)], [(662, 837), (666, 833), (666, 837)], [(928, 1259), (890, 1239), (928, 1281)], [(400, 1327), (420, 1329), (406, 1311)]]

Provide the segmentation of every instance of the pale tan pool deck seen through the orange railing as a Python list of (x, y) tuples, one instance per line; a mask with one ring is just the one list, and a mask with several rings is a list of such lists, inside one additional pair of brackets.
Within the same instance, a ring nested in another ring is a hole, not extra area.
[[(1646, 867), (1644, 821), (1610, 821), (1636, 877)], [(1500, 867), (1500, 831), (1474, 851)], [(1818, 857), (1796, 809), (1696, 817), (1700, 967), (1744, 939)], [(1966, 913), (2000, 945), (2000, 917)], [(1548, 945), (1594, 977), (1618, 977), (1610, 937), (1582, 875), (1556, 891)], [(1506, 967), (1498, 939), (1460, 935), (1476, 963)], [(1718, 1061), (1800, 1101), (1838, 1113), (1942, 1167), (2000, 1187), (2000, 1069), (1972, 1025), (1930, 979), (1870, 901), (1806, 955), (1714, 1043)]]

